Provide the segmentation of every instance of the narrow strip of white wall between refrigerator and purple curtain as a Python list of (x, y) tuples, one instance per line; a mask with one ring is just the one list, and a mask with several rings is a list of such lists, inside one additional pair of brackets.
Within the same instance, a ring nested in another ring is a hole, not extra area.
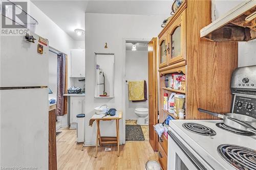
[(49, 88), (52, 90), (52, 94), (49, 94), (49, 100), (50, 99), (57, 99), (57, 55), (49, 52), (49, 74), (48, 74), (48, 80), (49, 80)]

